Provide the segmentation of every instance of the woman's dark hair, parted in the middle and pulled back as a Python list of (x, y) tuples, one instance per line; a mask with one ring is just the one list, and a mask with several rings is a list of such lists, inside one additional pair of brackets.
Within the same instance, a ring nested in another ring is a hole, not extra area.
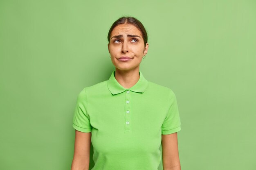
[(108, 42), (110, 42), (111, 32), (116, 26), (120, 24), (132, 24), (136, 26), (141, 31), (142, 37), (144, 39), (144, 46), (146, 46), (146, 43), (148, 42), (148, 34), (144, 26), (141, 24), (141, 22), (137, 20), (135, 17), (120, 17), (118, 20), (116, 20), (108, 31)]

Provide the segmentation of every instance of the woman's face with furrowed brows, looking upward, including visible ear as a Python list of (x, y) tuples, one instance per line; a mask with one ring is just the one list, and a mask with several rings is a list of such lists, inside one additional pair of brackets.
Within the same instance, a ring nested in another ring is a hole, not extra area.
[(148, 43), (145, 47), (142, 34), (136, 26), (120, 24), (111, 32), (108, 51), (117, 69), (139, 69), (142, 57), (148, 52)]

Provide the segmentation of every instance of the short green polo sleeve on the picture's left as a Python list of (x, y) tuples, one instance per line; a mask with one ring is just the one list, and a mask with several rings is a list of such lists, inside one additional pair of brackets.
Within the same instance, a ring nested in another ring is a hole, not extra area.
[(91, 132), (90, 117), (87, 113), (88, 102), (85, 88), (79, 93), (73, 117), (73, 128), (81, 132)]

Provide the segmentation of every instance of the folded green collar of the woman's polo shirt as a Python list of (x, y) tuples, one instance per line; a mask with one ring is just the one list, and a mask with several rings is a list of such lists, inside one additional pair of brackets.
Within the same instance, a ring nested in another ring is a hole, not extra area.
[[(142, 73), (139, 72), (139, 81), (137, 81), (137, 83), (129, 89), (132, 92), (143, 93), (147, 87), (148, 81), (144, 78)], [(108, 79), (108, 89), (112, 94), (119, 94), (127, 90), (122, 85), (120, 85), (115, 78), (115, 71), (112, 72), (110, 78)]]

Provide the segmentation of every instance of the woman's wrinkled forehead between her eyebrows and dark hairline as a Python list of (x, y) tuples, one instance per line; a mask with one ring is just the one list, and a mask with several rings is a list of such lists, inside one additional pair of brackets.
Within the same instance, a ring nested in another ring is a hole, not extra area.
[(130, 35), (136, 34), (141, 36), (141, 31), (139, 31), (139, 29), (132, 24), (120, 24), (116, 26), (111, 32), (111, 36), (122, 35), (122, 34), (130, 34)]

